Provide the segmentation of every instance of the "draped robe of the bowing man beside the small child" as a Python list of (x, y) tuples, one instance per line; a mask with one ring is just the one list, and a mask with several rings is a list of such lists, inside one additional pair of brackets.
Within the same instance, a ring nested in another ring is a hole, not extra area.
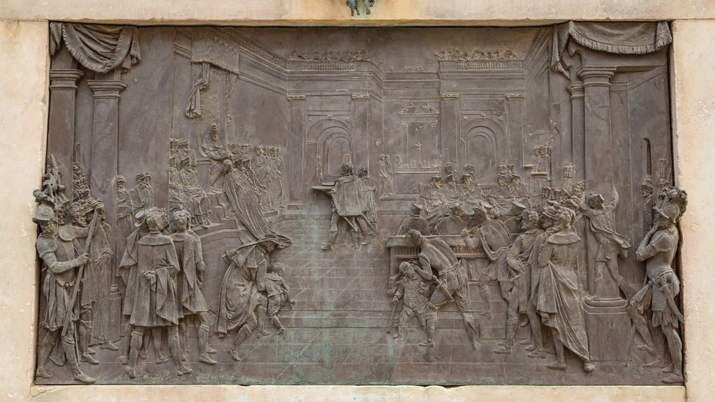
[(259, 245), (228, 251), (229, 267), (219, 296), (217, 333), (227, 335), (247, 322), (255, 321), (259, 290), (265, 290), (268, 255)]

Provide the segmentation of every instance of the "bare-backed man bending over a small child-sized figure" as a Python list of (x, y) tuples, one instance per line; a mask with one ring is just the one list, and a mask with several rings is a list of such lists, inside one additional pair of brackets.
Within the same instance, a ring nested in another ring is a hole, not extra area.
[[(467, 271), (459, 262), (457, 255), (440, 238), (426, 239), (417, 230), (410, 230), (406, 237), (415, 247), (420, 247), (420, 265), (423, 270), (415, 272), (425, 280), (434, 280), (438, 284), (427, 304), (427, 339), (420, 342), (419, 345), (434, 347), (437, 310), (448, 301), (454, 300), (458, 310), (462, 313), (472, 347), (476, 349), (477, 328), (474, 326), (474, 317), (468, 298)], [(433, 269), (437, 271), (437, 275), (432, 275)]]

